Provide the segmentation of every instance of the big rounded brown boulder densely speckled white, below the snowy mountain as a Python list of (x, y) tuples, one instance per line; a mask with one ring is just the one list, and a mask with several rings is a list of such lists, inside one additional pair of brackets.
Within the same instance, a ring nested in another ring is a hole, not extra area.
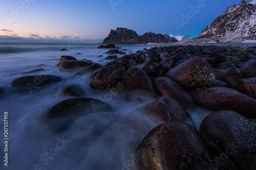
[(201, 57), (195, 57), (170, 69), (165, 77), (174, 80), (184, 90), (193, 90), (214, 81), (215, 71)]

